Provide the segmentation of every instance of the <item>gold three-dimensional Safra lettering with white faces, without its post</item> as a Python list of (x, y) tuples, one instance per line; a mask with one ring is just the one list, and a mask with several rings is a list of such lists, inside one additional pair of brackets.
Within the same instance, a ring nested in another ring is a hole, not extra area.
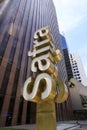
[(67, 99), (66, 85), (59, 79), (56, 62), (61, 61), (60, 50), (55, 50), (54, 40), (48, 27), (34, 34), (33, 51), (28, 52), (32, 58), (31, 71), (34, 77), (24, 83), (25, 100), (40, 103), (51, 101), (61, 103)]

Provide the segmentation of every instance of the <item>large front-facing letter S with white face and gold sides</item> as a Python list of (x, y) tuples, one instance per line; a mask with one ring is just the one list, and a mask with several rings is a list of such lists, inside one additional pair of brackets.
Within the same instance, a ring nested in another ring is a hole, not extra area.
[(29, 92), (28, 90), (30, 90), (30, 84), (32, 85), (32, 81), (33, 80), (29, 78), (24, 84), (23, 97), (26, 100), (40, 102), (42, 100), (54, 99), (56, 95), (56, 84), (50, 75), (47, 73), (39, 74), (34, 82), (32, 92)]

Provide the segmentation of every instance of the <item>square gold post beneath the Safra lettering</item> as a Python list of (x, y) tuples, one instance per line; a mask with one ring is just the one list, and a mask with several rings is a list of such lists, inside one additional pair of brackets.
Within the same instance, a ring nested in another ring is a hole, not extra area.
[(57, 130), (54, 101), (37, 104), (36, 130)]

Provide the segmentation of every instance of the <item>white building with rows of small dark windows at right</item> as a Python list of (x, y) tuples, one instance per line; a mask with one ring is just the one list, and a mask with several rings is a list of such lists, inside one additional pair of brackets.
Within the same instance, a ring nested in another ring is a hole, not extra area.
[(73, 71), (73, 77), (81, 82), (84, 86), (87, 86), (87, 77), (79, 54), (70, 54), (70, 61)]

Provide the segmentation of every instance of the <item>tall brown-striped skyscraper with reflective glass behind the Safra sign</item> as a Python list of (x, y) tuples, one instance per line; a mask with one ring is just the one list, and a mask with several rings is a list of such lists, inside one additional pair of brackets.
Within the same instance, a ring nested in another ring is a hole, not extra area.
[[(0, 24), (0, 125), (35, 122), (36, 104), (22, 97), (25, 80), (32, 75), (33, 36), (37, 29), (49, 26), (56, 48), (61, 50), (59, 29), (52, 0), (12, 0)], [(64, 59), (58, 64), (59, 76), (65, 82), (67, 73)], [(71, 118), (70, 99), (56, 105), (57, 120)]]

